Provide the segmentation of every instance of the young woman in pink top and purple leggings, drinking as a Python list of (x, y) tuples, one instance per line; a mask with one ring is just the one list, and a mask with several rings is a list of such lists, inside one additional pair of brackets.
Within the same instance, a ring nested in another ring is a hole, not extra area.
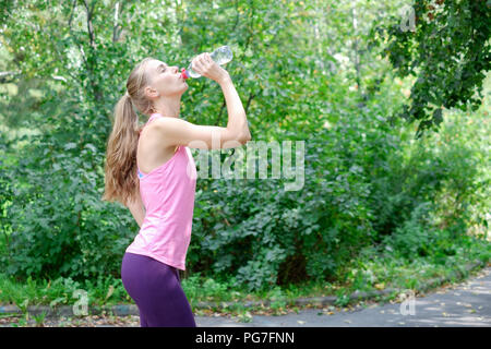
[[(185, 269), (196, 184), (189, 148), (230, 148), (251, 140), (228, 72), (207, 52), (193, 60), (193, 70), (220, 85), (226, 128), (180, 119), (188, 84), (178, 67), (145, 58), (131, 72), (127, 93), (116, 106), (107, 145), (103, 200), (121, 202), (141, 227), (125, 250), (121, 279), (139, 306), (142, 327), (196, 326), (178, 270)], [(141, 129), (133, 108), (148, 117)]]

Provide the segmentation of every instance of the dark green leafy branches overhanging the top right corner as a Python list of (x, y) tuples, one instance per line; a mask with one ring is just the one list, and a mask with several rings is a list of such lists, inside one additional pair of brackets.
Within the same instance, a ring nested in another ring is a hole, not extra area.
[[(417, 77), (400, 117), (419, 121), (417, 137), (438, 128), (442, 108), (476, 111), (491, 70), (491, 3), (487, 0), (412, 1), (410, 11), (373, 27), (374, 45), (399, 76)], [(477, 95), (476, 95), (477, 92)]]

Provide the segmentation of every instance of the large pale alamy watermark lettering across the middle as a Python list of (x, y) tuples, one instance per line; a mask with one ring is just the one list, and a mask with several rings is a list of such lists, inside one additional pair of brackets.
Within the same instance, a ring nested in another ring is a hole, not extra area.
[[(199, 152), (196, 165), (200, 170), (196, 172), (194, 166), (189, 166), (187, 173), (193, 179), (208, 179), (209, 167), (213, 179), (256, 179), (258, 173), (258, 179), (292, 180), (285, 183), (285, 191), (298, 191), (303, 188), (306, 181), (304, 143), (304, 141), (295, 141), (295, 151), (292, 141), (283, 141), (282, 143), (250, 141), (246, 145), (238, 141), (227, 141), (220, 146), (217, 132), (212, 135), (212, 151), (220, 149), (220, 152)], [(206, 143), (203, 141), (192, 141), (189, 143), (189, 147), (200, 151), (207, 149)], [(227, 156), (221, 164), (221, 151), (228, 151), (228, 148), (233, 148), (233, 154)], [(270, 152), (271, 158), (268, 157)], [(211, 161), (209, 157), (212, 157)], [(270, 169), (271, 177), (268, 177)]]

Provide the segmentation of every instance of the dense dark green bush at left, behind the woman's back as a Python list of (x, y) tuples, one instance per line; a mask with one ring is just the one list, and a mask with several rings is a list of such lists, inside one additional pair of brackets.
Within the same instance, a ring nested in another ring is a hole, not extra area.
[(0, 263), (17, 277), (119, 277), (135, 222), (121, 205), (100, 202), (95, 161), (101, 154), (91, 144), (82, 149), (63, 144), (65, 131), (49, 141), (33, 137), (21, 151), (19, 166), (2, 170), (4, 178), (15, 180), (10, 181), (12, 188), (2, 185), (2, 195), (10, 195), (12, 204), (2, 218), (3, 229), (11, 232), (3, 236), (7, 253)]

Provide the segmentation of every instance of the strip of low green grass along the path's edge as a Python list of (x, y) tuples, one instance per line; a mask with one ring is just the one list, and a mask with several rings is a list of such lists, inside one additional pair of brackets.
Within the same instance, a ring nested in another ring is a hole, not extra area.
[[(397, 251), (388, 252), (380, 246), (367, 248), (359, 253), (358, 258), (339, 269), (337, 282), (308, 281), (246, 292), (232, 286), (233, 279), (217, 281), (196, 274), (182, 279), (182, 288), (197, 315), (204, 314), (206, 310), (199, 310), (195, 305), (199, 302), (211, 302), (215, 305), (209, 306), (207, 311), (235, 314), (244, 322), (250, 321), (251, 312), (254, 311), (279, 314), (291, 306), (298, 298), (336, 296), (335, 304), (346, 306), (349, 303), (347, 296), (356, 290), (371, 291), (385, 288), (418, 290), (421, 282), (434, 277), (448, 276), (456, 268), (462, 268), (470, 262), (490, 261), (491, 244), (487, 240), (463, 238), (452, 243), (456, 251), (454, 255), (442, 256), (435, 253), (431, 256), (415, 255), (410, 258), (403, 257)], [(344, 281), (340, 281), (342, 279)], [(71, 278), (33, 280), (31, 277), (25, 282), (17, 282), (0, 274), (0, 303), (16, 304), (24, 313), (29, 305), (73, 305), (81, 300), (83, 292), (86, 292), (88, 306), (133, 303), (121, 280), (112, 277), (87, 280), (84, 284)], [(395, 297), (397, 294), (391, 294), (383, 300), (387, 301)], [(244, 301), (260, 300), (270, 300), (270, 306), (265, 309), (243, 305)], [(225, 306), (225, 302), (232, 302), (232, 305)], [(36, 317), (36, 322), (41, 324), (43, 321), (44, 315)]]

